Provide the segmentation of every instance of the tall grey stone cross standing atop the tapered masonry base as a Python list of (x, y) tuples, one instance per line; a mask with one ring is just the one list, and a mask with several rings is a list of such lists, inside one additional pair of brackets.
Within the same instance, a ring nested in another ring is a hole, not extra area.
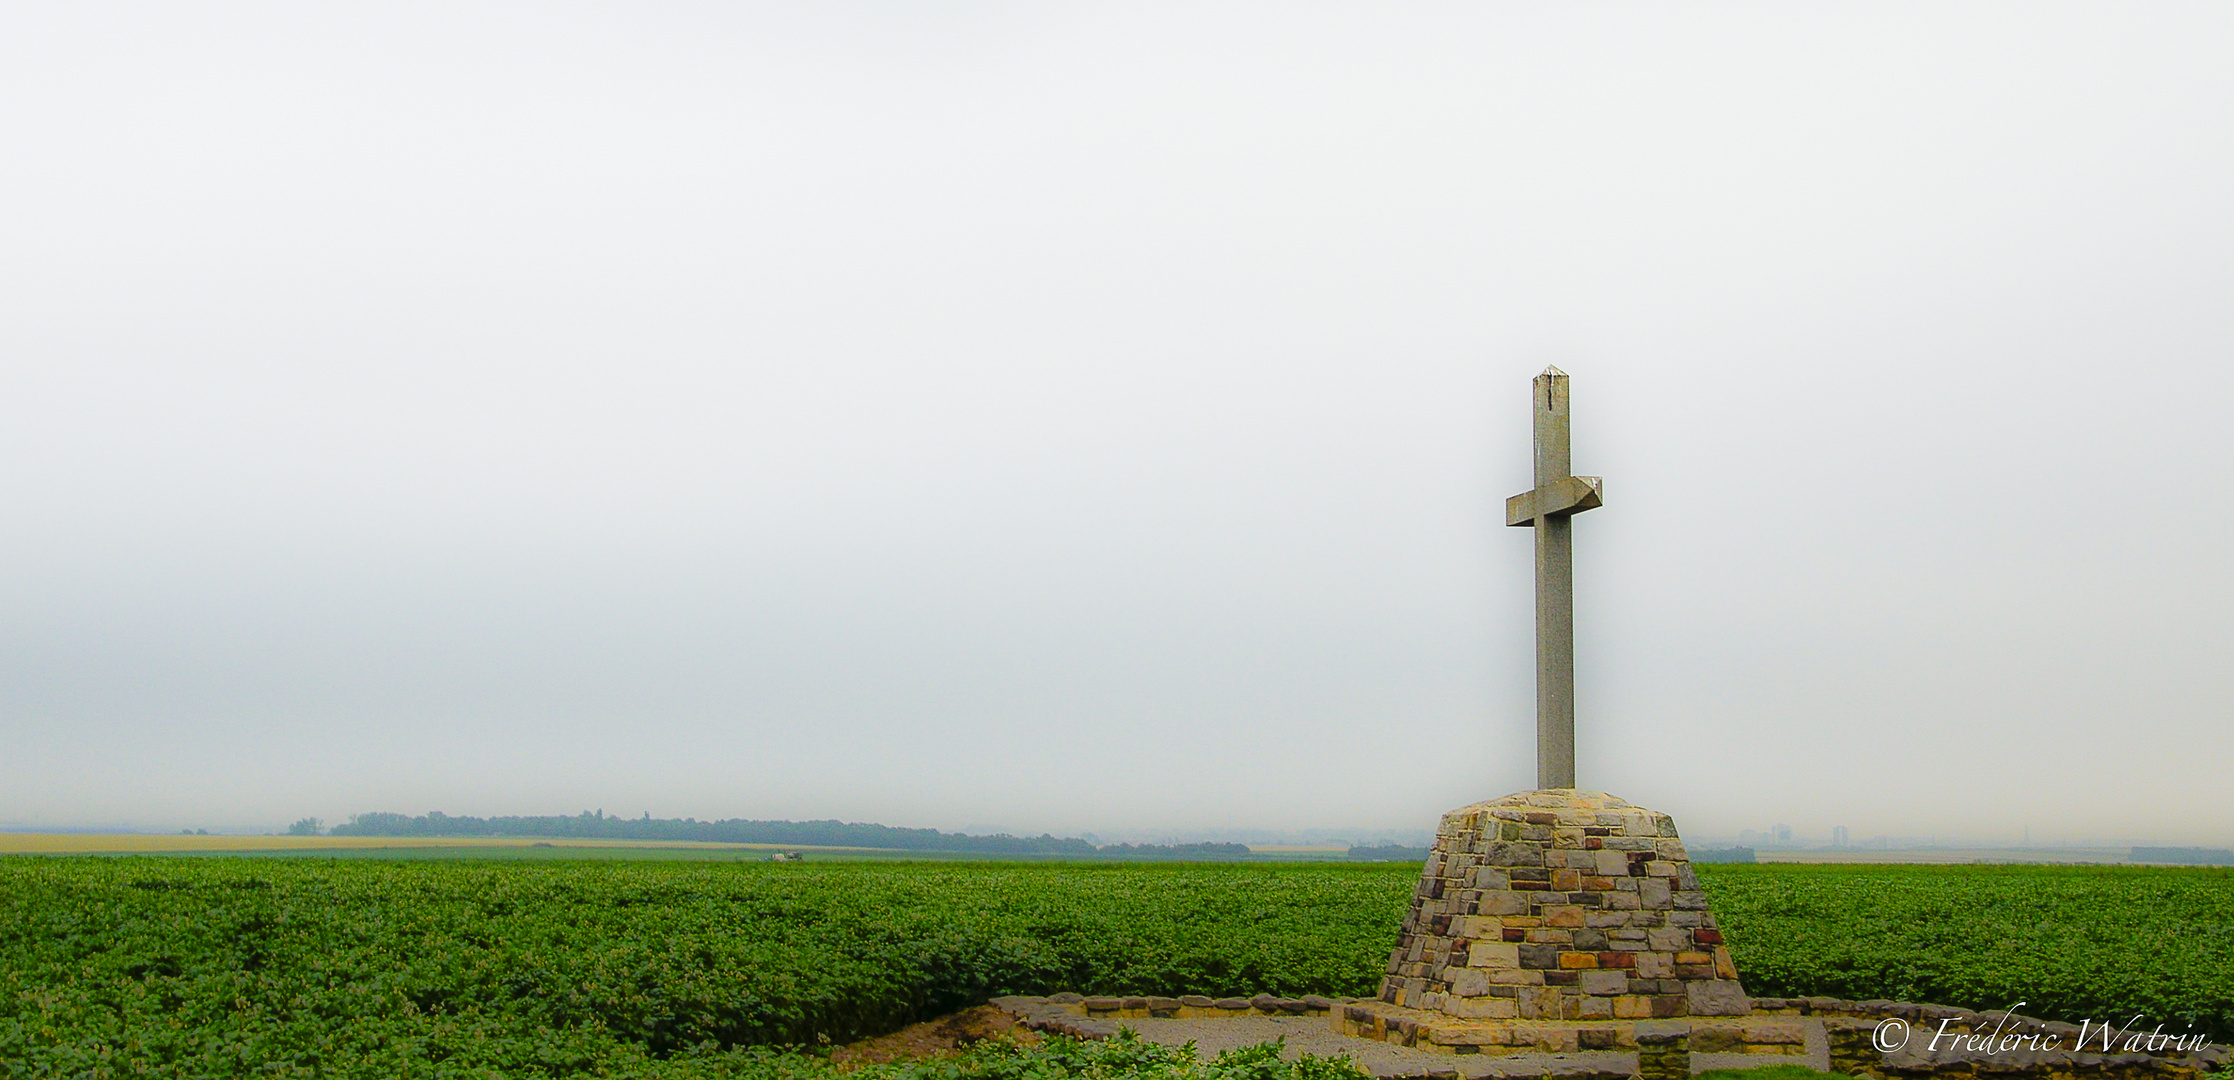
[(1506, 499), (1506, 525), (1537, 532), (1537, 787), (1575, 787), (1575, 550), (1568, 517), (1595, 510), (1602, 481), (1566, 454), (1566, 371), (1535, 378), (1537, 485)]

